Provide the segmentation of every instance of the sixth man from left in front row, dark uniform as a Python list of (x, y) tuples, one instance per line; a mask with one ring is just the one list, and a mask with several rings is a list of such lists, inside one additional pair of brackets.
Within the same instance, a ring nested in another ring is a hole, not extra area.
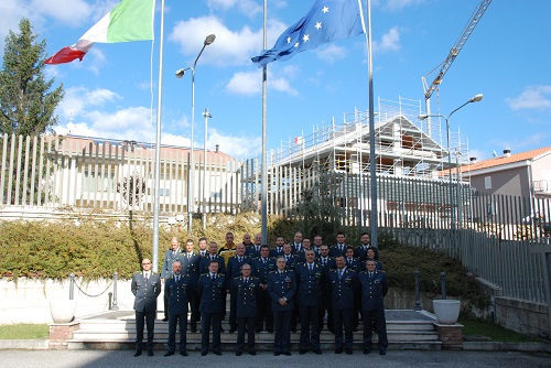
[[(300, 354), (306, 353), (310, 343), (314, 353), (320, 355), (320, 309), (322, 305), (323, 267), (314, 262), (314, 250), (305, 251), (306, 262), (300, 263), (296, 275), (296, 303), (301, 317)], [(312, 328), (312, 334), (311, 334)]]

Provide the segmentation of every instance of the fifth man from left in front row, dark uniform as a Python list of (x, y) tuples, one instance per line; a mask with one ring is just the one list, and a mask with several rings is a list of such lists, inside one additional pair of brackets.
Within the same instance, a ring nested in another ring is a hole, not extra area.
[(278, 269), (268, 275), (268, 293), (272, 301), (273, 355), (291, 355), (291, 316), (294, 309), (296, 281), (294, 272), (285, 269), (285, 259), (279, 257), (276, 261)]

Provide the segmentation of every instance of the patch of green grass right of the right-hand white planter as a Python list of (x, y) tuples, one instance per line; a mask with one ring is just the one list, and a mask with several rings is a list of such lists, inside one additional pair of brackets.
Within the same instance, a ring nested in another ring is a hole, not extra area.
[(496, 325), (485, 320), (467, 320), (460, 318), (457, 321), (463, 327), (463, 337), (466, 340), (487, 340), (487, 342), (505, 342), (505, 343), (529, 343), (544, 342), (534, 336), (518, 334), (503, 326)]

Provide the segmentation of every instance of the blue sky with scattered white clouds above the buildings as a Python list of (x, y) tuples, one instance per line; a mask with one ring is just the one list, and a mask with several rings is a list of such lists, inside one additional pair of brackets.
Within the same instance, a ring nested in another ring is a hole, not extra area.
[[(75, 43), (116, 0), (2, 0), (0, 53), (21, 18), (31, 20), (47, 56)], [(314, 0), (268, 0), (268, 48)], [(431, 83), (462, 34), (479, 0), (372, 0), (372, 84), (379, 99), (403, 99), (425, 112), (421, 77)], [(366, 1), (363, 0), (364, 13)], [(195, 68), (194, 145), (203, 148), (208, 108), (207, 149), (235, 158), (258, 156), (262, 134), (261, 68), (250, 57), (262, 50), (262, 0), (165, 0), (162, 62), (163, 144), (190, 147), (191, 75)], [(461, 131), (468, 154), (479, 160), (508, 148), (512, 153), (551, 145), (551, 1), (493, 1), (431, 98), (431, 113), (447, 116)], [(83, 62), (47, 65), (63, 83), (57, 108), (60, 134), (154, 142), (161, 40), (161, 0), (156, 0), (155, 40), (95, 44)], [(368, 109), (365, 35), (305, 51), (268, 64), (268, 149), (288, 147), (313, 127), (343, 121), (344, 113)], [(544, 67), (544, 65), (548, 67)], [(431, 73), (431, 71), (434, 71)], [(377, 111), (377, 108), (375, 109)], [(444, 122), (445, 125), (445, 122)]]

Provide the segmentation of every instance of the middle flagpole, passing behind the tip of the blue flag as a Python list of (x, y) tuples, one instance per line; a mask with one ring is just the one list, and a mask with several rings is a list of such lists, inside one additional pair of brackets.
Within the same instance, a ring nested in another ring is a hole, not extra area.
[[(268, 48), (268, 0), (264, 0), (264, 28), (263, 28), (263, 50)], [(262, 243), (268, 245), (268, 152), (267, 152), (267, 87), (268, 87), (268, 66), (262, 67), (262, 183), (261, 193), (261, 218), (262, 218)]]

